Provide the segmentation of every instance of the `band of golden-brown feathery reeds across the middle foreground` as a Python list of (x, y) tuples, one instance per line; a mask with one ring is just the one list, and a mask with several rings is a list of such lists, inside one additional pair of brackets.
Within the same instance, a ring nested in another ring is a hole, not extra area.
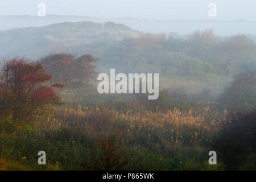
[(56, 109), (45, 125), (72, 127), (75, 132), (116, 133), (123, 143), (152, 150), (173, 151), (179, 146), (210, 144), (218, 131), (222, 113), (207, 107), (182, 112), (178, 109), (118, 112), (96, 107), (63, 106)]

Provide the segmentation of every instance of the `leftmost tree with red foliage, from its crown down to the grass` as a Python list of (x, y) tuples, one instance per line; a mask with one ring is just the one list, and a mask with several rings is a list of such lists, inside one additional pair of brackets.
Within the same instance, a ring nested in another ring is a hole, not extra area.
[(49, 85), (51, 78), (42, 64), (29, 63), (23, 57), (5, 61), (0, 71), (0, 117), (28, 121), (59, 104), (55, 88), (64, 84)]

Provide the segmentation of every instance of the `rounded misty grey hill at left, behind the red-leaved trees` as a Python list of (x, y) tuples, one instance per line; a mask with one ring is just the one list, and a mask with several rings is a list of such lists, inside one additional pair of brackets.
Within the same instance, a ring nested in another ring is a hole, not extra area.
[[(73, 52), (97, 55), (100, 49), (141, 34), (116, 23), (59, 23), (45, 27), (0, 31), (0, 56), (40, 57), (49, 53)], [(97, 50), (96, 50), (97, 48)]]

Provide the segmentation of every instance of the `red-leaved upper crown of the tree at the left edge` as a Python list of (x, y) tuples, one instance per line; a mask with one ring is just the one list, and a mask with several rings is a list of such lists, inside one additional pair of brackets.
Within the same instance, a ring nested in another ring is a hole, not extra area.
[[(8, 60), (1, 71), (0, 93), (2, 97), (12, 97), (15, 100), (32, 99), (49, 101), (56, 98), (54, 88), (64, 88), (59, 82), (47, 86), (52, 76), (45, 73), (41, 64), (28, 63), (23, 58)], [(3, 94), (9, 93), (9, 94)]]

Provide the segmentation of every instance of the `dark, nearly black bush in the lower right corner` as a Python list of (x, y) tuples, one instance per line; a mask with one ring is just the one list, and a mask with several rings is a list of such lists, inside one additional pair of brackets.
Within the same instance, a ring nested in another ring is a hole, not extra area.
[(222, 121), (213, 148), (220, 154), (225, 168), (256, 169), (256, 110), (232, 113)]

